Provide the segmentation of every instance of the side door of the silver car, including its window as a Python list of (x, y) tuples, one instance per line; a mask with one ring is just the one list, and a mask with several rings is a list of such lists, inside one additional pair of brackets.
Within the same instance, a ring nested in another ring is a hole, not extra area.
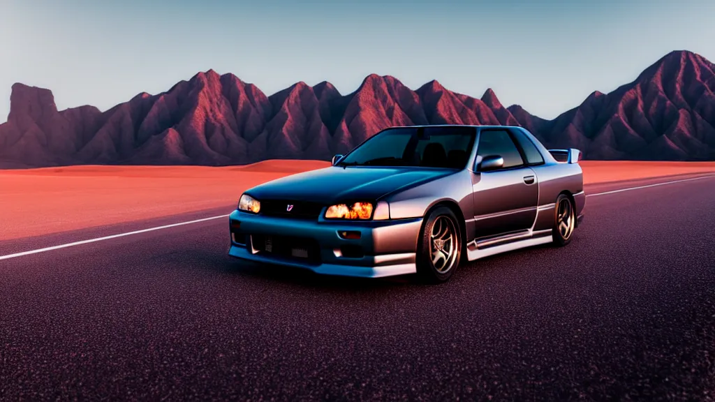
[[(480, 172), (484, 157), (499, 155), (504, 166)], [(472, 176), (475, 238), (506, 235), (532, 227), (538, 204), (538, 179), (513, 133), (480, 130)]]

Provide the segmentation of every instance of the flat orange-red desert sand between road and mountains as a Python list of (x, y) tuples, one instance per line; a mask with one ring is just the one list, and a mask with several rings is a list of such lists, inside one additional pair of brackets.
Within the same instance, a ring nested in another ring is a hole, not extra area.
[[(237, 167), (72, 166), (0, 170), (0, 240), (235, 207), (262, 182), (330, 166), (270, 160)], [(581, 162), (586, 184), (715, 172), (715, 162)]]

